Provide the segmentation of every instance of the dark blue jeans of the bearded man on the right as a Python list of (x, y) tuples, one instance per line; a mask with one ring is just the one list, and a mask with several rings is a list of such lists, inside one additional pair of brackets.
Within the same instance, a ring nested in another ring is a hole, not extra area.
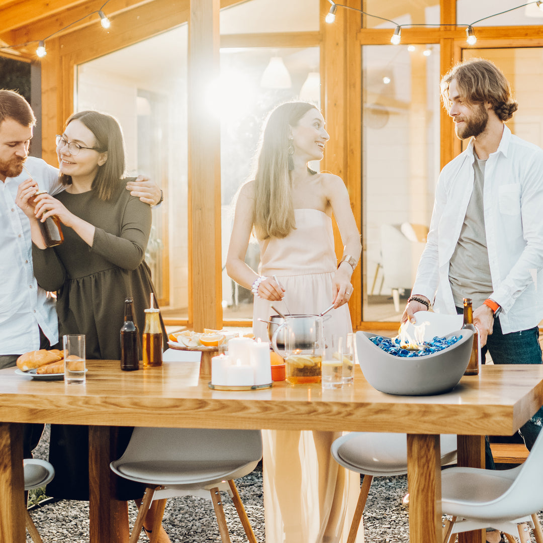
[[(463, 308), (457, 307), (457, 313), (462, 314)], [(492, 334), (487, 338), (487, 344), (481, 349), (482, 361), (490, 352), (494, 364), (541, 364), (541, 346), (539, 345), (539, 327), (529, 330), (504, 334), (500, 317), (494, 319)], [(543, 424), (543, 407), (519, 428), (526, 448), (531, 451)]]

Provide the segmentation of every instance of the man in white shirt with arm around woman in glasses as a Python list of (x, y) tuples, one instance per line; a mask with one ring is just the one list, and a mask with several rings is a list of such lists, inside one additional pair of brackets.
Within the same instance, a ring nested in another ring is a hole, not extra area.
[[(54, 300), (34, 278), (30, 223), (15, 203), (18, 185), (30, 176), (40, 190), (63, 190), (58, 169), (28, 156), (35, 124), (20, 94), (0, 90), (0, 368), (14, 366), (24, 352), (58, 343)], [(159, 187), (142, 176), (127, 189), (148, 204), (161, 201)]]

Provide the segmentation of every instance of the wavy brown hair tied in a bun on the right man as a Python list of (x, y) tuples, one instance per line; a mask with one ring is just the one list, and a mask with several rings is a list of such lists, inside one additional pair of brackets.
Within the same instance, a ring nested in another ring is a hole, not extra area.
[(459, 62), (441, 78), (441, 100), (450, 106), (449, 85), (455, 79), (460, 96), (471, 104), (489, 102), (501, 121), (509, 121), (519, 108), (511, 93), (509, 81), (493, 62), (470, 59)]

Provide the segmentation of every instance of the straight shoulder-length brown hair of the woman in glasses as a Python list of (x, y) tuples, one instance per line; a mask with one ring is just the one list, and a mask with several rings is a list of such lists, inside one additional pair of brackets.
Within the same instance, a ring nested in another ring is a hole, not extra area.
[[(83, 123), (94, 135), (98, 153), (108, 151), (108, 160), (98, 167), (98, 173), (92, 181), (92, 190), (100, 200), (108, 201), (124, 184), (124, 142), (123, 132), (117, 119), (98, 111), (80, 111), (74, 113), (66, 121), (65, 129), (72, 121), (77, 119)], [(60, 174), (62, 185), (71, 185), (72, 176)]]

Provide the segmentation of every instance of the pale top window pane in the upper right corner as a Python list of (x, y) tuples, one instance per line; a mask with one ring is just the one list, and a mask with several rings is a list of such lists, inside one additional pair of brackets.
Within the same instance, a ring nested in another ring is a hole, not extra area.
[[(521, 5), (518, 9), (508, 11), (503, 15), (496, 15), (479, 21), (477, 27), (510, 27), (517, 25), (543, 24), (543, 11), (533, 2), (525, 2), (529, 5)], [(458, 24), (468, 25), (489, 15), (509, 10), (522, 4), (511, 0), (457, 0), (456, 21)]]

